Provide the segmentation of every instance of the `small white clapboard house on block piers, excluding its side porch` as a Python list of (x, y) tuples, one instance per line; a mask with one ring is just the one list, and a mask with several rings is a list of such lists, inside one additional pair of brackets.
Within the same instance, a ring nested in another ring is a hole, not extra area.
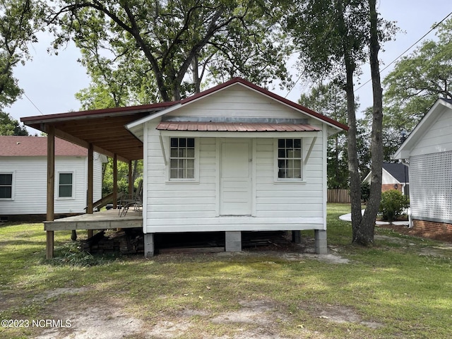
[(327, 138), (347, 126), (241, 78), (126, 127), (143, 141), (145, 255), (160, 232), (315, 230), (326, 253)]

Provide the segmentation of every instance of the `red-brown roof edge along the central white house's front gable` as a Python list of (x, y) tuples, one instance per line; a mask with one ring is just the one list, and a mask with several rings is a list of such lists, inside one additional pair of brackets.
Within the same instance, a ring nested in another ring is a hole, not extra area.
[(184, 105), (193, 100), (199, 99), (200, 97), (204, 97), (206, 95), (210, 95), (211, 93), (215, 93), (216, 91), (221, 90), (222, 88), (227, 88), (230, 85), (234, 85), (235, 83), (241, 83), (242, 85), (245, 85), (246, 87), (256, 90), (257, 92), (262, 93), (263, 95), (267, 95), (268, 97), (271, 97), (275, 100), (283, 102), (285, 105), (288, 105), (295, 109), (301, 110), (302, 112), (305, 112), (313, 117), (316, 117), (317, 119), (326, 121), (326, 122), (328, 122), (328, 124), (332, 124), (336, 127), (339, 127), (340, 129), (344, 129), (345, 131), (348, 131), (348, 129), (349, 129), (349, 127), (347, 125), (342, 124), (339, 121), (335, 121), (334, 119), (326, 117), (323, 114), (314, 112), (312, 109), (309, 109), (309, 108), (299, 105), (295, 102), (287, 100), (285, 97), (281, 97), (280, 95), (277, 95), (275, 93), (270, 92), (269, 90), (266, 90), (265, 88), (261, 88), (258, 85), (254, 85), (254, 83), (250, 83), (249, 81), (246, 81), (243, 78), (238, 78), (238, 77), (232, 78), (230, 81), (217, 85), (213, 88), (209, 88), (208, 90), (204, 90), (203, 92), (198, 93), (196, 95), (192, 95), (191, 97), (187, 97), (186, 99), (181, 100), (180, 103), (181, 103), (181, 105)]

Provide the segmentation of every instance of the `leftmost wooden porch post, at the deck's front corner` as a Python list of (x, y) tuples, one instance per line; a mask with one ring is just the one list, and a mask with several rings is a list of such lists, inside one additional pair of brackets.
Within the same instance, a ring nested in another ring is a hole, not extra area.
[[(55, 195), (55, 128), (49, 126), (47, 131), (47, 221), (54, 221), (54, 195)], [(54, 257), (54, 231), (46, 233), (47, 259)]]

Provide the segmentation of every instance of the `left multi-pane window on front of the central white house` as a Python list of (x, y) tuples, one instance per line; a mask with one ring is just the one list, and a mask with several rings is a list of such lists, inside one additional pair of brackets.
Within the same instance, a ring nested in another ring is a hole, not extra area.
[(195, 139), (170, 138), (169, 179), (195, 179)]

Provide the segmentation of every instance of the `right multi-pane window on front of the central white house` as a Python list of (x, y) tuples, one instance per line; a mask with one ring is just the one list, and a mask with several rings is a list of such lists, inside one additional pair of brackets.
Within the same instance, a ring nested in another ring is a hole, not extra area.
[(301, 180), (302, 164), (302, 139), (278, 139), (278, 180)]

